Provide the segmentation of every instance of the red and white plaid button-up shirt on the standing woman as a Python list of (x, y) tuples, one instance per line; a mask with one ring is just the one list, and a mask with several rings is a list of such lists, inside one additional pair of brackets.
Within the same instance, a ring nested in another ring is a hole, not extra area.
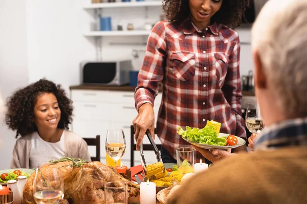
[(176, 148), (188, 145), (177, 127), (204, 127), (221, 122), (221, 132), (246, 138), (241, 116), (238, 34), (225, 25), (199, 31), (188, 18), (182, 24), (158, 22), (148, 38), (138, 75), (136, 108), (153, 105), (162, 82), (157, 135), (176, 158)]

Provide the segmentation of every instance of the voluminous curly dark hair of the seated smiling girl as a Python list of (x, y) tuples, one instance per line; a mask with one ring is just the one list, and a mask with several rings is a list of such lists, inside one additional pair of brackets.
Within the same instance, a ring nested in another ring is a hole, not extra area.
[(37, 96), (43, 93), (52, 93), (57, 98), (61, 110), (61, 119), (58, 128), (69, 129), (72, 122), (73, 101), (69, 99), (64, 89), (46, 79), (41, 79), (36, 83), (17, 90), (7, 100), (8, 112), (5, 117), (6, 124), (16, 132), (16, 138), (20, 134), (24, 137), (37, 131), (34, 122), (34, 106), (37, 103)]

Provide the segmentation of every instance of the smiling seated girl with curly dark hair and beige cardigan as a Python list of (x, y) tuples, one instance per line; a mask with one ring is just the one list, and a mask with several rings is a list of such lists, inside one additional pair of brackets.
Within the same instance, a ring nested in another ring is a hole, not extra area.
[(16, 131), (11, 168), (36, 168), (64, 156), (91, 161), (86, 142), (68, 131), (72, 100), (59, 85), (42, 79), (16, 91), (7, 103), (6, 123)]

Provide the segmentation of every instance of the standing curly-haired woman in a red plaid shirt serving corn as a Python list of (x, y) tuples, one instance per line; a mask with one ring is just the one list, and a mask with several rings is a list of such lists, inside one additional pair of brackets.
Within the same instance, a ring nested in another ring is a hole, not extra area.
[[(248, 0), (164, 0), (168, 21), (160, 21), (148, 38), (138, 75), (134, 119), (139, 148), (145, 131), (153, 135), (153, 101), (162, 83), (157, 135), (164, 162), (175, 162), (176, 148), (188, 145), (178, 126), (204, 127), (221, 122), (221, 132), (246, 139), (236, 31)], [(234, 151), (246, 150), (243, 146)], [(198, 159), (200, 158), (198, 154)]]

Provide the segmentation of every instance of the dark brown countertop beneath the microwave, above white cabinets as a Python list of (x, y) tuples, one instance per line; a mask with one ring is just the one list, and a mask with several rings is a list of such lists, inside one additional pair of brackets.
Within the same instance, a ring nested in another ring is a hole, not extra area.
[[(123, 85), (123, 86), (95, 86), (95, 85), (77, 85), (71, 86), (70, 90), (109, 90), (109, 91), (135, 91), (135, 86)], [(162, 91), (162, 88), (159, 89)], [(242, 91), (243, 96), (254, 96), (252, 91)]]

